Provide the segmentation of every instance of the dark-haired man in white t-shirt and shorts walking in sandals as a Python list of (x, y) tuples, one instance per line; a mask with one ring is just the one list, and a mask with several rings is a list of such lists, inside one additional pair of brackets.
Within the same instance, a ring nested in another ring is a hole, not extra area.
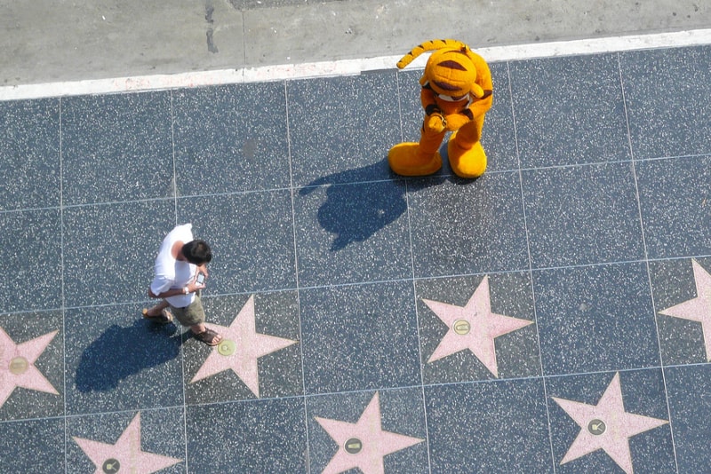
[(192, 224), (178, 225), (165, 236), (156, 257), (155, 276), (148, 287), (148, 296), (163, 301), (150, 309), (144, 308), (143, 317), (167, 324), (174, 314), (182, 326), (190, 328), (196, 339), (207, 345), (217, 345), (222, 336), (205, 327), (205, 312), (200, 300), (212, 250), (207, 242), (193, 239), (192, 227)]

